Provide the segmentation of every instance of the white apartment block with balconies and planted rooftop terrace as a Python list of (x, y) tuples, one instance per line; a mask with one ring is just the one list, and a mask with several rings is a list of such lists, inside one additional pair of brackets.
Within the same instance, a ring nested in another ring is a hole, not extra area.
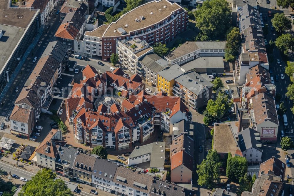
[[(108, 49), (109, 46), (107, 46)], [(104, 46), (104, 50), (106, 46)], [(144, 55), (152, 53), (153, 48), (145, 40), (123, 39), (116, 40), (116, 54), (118, 54), (119, 62), (130, 70), (133, 74), (142, 75), (143, 69), (138, 63)]]

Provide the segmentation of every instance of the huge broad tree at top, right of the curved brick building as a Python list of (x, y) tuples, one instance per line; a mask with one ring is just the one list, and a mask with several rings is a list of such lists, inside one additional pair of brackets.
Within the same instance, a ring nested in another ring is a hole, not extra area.
[(197, 39), (201, 41), (224, 38), (230, 28), (231, 10), (225, 0), (204, 1), (194, 12), (196, 27), (200, 30)]

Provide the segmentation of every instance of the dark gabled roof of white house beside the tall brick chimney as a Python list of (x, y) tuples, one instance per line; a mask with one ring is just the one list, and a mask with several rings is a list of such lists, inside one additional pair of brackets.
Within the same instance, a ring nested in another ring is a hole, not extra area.
[(242, 152), (251, 147), (262, 152), (259, 132), (249, 127), (238, 133), (238, 143)]

